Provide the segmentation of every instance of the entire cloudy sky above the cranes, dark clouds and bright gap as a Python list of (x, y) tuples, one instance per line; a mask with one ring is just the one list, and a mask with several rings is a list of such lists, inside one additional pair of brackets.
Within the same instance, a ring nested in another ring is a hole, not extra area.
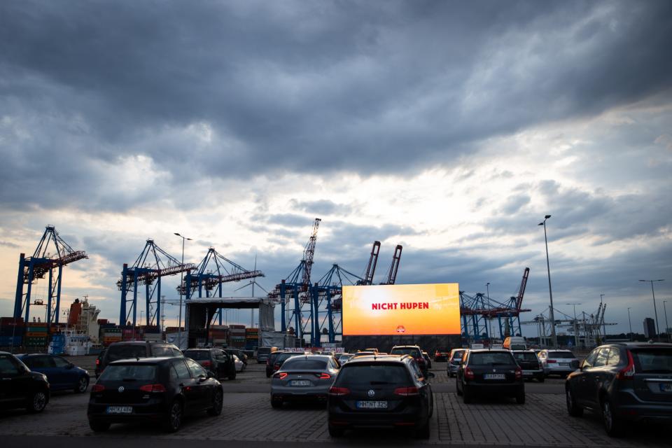
[(148, 237), (178, 258), (173, 232), (193, 238), (192, 262), (257, 256), (269, 289), (320, 217), (314, 279), (362, 274), (375, 239), (376, 281), (395, 244), (398, 283), (489, 282), (500, 300), (527, 266), (531, 319), (551, 214), (556, 308), (595, 312), (602, 293), (610, 332), (627, 307), (641, 331), (638, 279), (666, 279), (663, 328), (671, 46), (667, 0), (3, 1), (0, 315), (47, 224), (90, 256), (64, 303), (87, 294), (118, 321)]

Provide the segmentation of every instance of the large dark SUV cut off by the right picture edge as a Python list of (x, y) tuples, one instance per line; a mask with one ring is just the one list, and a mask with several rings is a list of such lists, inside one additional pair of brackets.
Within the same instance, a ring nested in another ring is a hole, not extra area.
[(567, 411), (601, 415), (608, 435), (627, 423), (672, 423), (672, 344), (623, 342), (591, 351), (565, 380)]

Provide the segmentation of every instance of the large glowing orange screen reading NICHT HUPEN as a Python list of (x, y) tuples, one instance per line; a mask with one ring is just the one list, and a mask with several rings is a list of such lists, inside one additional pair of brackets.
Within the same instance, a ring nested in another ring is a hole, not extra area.
[(458, 283), (343, 286), (343, 335), (459, 335)]

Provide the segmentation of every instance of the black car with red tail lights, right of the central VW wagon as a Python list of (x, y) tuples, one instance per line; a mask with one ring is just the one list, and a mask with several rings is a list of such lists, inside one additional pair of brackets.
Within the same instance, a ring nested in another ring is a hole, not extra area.
[(457, 370), (457, 395), (470, 403), (475, 395), (505, 395), (525, 402), (523, 370), (508, 350), (469, 350)]

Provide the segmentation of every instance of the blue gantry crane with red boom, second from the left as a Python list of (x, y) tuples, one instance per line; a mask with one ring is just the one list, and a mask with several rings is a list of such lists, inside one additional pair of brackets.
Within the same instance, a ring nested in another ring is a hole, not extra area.
[[(196, 265), (193, 263), (181, 263), (157, 246), (153, 239), (148, 239), (133, 265), (129, 267), (127, 263), (124, 263), (121, 279), (117, 281), (117, 287), (121, 291), (120, 325), (125, 325), (131, 316), (132, 325), (136, 325), (138, 286), (143, 285), (145, 286), (146, 325), (154, 325), (155, 321), (158, 323), (158, 316), (161, 316), (161, 278), (195, 269)], [(131, 291), (133, 295), (128, 298), (128, 293)]]

